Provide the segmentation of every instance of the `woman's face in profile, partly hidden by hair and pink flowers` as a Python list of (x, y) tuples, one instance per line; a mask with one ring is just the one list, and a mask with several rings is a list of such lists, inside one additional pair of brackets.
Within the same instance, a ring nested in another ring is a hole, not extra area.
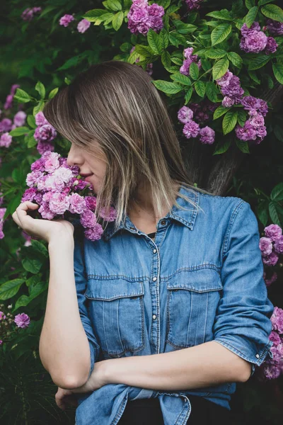
[(88, 154), (80, 147), (76, 147), (73, 143), (67, 157), (67, 164), (69, 166), (79, 166), (80, 174), (91, 174), (87, 181), (93, 185), (93, 192), (98, 193), (103, 181), (107, 160), (105, 154), (97, 147), (96, 152)]

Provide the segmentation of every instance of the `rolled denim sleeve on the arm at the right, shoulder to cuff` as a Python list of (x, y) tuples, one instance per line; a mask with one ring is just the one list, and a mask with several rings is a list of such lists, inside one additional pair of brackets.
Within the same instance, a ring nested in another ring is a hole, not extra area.
[(270, 356), (272, 302), (267, 298), (258, 220), (244, 200), (233, 209), (222, 248), (223, 296), (216, 310), (214, 340), (252, 364)]

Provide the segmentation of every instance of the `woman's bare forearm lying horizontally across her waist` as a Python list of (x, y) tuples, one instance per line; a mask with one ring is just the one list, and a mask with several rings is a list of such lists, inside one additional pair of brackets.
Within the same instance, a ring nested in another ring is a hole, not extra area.
[(151, 356), (105, 361), (105, 382), (154, 390), (190, 390), (244, 382), (250, 363), (215, 341)]

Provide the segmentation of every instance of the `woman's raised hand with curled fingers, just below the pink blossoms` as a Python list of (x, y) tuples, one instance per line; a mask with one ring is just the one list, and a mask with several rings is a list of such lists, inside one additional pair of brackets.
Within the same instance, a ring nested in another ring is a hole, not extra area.
[(52, 237), (58, 237), (63, 233), (74, 238), (74, 226), (67, 220), (40, 220), (30, 217), (28, 211), (36, 210), (38, 206), (26, 200), (13, 212), (13, 221), (29, 236), (39, 237), (48, 243)]

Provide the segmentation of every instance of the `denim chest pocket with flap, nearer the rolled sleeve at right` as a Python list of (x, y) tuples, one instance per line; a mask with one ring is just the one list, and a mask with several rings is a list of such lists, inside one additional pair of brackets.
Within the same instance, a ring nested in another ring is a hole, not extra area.
[(223, 289), (218, 271), (180, 271), (166, 285), (166, 342), (174, 348), (186, 348), (211, 341)]

